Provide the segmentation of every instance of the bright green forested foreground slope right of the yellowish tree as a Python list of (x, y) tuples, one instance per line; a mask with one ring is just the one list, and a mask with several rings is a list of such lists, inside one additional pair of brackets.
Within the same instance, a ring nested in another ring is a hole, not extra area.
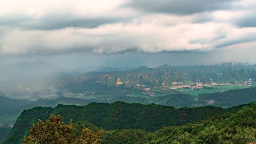
[[(139, 129), (103, 131), (103, 144), (248, 144), (256, 141), (256, 102), (246, 105), (237, 113), (216, 114), (197, 123), (170, 126), (155, 132)], [(100, 128), (87, 122), (74, 124), (74, 132), (81, 128), (95, 132)]]

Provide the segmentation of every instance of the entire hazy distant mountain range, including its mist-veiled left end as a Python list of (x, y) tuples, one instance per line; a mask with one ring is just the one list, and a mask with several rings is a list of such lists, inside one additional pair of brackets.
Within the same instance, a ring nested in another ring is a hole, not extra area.
[[(47, 89), (66, 89), (69, 91), (105, 90), (113, 87), (136, 88), (147, 85), (151, 88), (171, 86), (172, 82), (220, 83), (256, 79), (256, 65), (229, 63), (222, 65), (162, 65), (156, 68), (95, 67), (83, 74), (78, 68), (64, 71), (44, 61), (19, 62), (0, 68), (0, 91), (12, 94), (31, 93)], [(85, 68), (86, 69), (86, 68)]]

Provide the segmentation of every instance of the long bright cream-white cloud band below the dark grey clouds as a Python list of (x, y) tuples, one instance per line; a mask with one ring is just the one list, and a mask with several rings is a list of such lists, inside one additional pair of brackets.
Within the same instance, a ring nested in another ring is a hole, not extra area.
[[(210, 27), (210, 28), (209, 28)], [(9, 31), (1, 41), (2, 55), (54, 55), (72, 52), (97, 54), (132, 52), (208, 51), (254, 40), (256, 28), (204, 23), (159, 26), (106, 24), (97, 28)], [(223, 37), (223, 35), (226, 35)], [(249, 36), (251, 39), (248, 39)]]

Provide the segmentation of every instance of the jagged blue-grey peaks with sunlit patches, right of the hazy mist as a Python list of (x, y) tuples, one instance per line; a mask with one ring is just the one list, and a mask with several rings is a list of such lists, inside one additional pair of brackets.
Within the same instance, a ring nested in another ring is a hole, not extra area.
[[(215, 69), (213, 69), (215, 68)], [(135, 88), (147, 85), (151, 88), (172, 86), (172, 82), (220, 83), (256, 79), (254, 69), (227, 69), (222, 66), (194, 66), (167, 68), (147, 68), (134, 71), (88, 72), (72, 77), (67, 85), (61, 83), (58, 89), (69, 91), (91, 91), (110, 89), (112, 87)]]

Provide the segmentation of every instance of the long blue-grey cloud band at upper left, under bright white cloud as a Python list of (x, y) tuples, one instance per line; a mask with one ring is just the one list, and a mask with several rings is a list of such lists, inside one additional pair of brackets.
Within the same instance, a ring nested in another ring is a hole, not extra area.
[(35, 19), (27, 15), (12, 15), (0, 17), (0, 24), (8, 27), (19, 27), (31, 30), (53, 30), (66, 27), (95, 28), (103, 24), (111, 24), (122, 21), (122, 18), (113, 17), (82, 17), (69, 14), (48, 14)]

